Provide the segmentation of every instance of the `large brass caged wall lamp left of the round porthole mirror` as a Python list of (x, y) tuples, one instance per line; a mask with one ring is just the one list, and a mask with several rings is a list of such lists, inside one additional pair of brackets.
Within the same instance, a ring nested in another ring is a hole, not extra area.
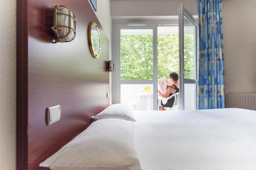
[(70, 42), (76, 36), (76, 17), (66, 6), (54, 6), (53, 26), (51, 30), (54, 33), (53, 43)]

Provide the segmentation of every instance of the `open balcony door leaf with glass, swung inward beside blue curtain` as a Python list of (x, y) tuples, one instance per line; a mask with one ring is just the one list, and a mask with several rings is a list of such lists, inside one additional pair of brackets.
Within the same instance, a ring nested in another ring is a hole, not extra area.
[(179, 11), (180, 110), (196, 110), (198, 99), (198, 23), (184, 8)]

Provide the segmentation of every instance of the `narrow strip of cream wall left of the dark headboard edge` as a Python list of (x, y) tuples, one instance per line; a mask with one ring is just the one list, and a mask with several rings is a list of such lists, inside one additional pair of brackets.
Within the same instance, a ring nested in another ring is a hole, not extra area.
[(16, 169), (16, 1), (0, 0), (0, 169)]

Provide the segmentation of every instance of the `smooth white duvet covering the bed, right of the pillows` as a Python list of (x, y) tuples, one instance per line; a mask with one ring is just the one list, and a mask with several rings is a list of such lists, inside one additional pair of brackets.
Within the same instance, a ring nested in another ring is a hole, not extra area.
[(256, 170), (256, 111), (135, 111), (142, 170)]

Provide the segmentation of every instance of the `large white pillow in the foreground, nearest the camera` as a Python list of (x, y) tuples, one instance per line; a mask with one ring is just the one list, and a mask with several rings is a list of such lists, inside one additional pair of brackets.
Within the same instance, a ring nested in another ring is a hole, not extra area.
[(53, 170), (139, 170), (133, 133), (132, 122), (97, 120), (40, 166)]

